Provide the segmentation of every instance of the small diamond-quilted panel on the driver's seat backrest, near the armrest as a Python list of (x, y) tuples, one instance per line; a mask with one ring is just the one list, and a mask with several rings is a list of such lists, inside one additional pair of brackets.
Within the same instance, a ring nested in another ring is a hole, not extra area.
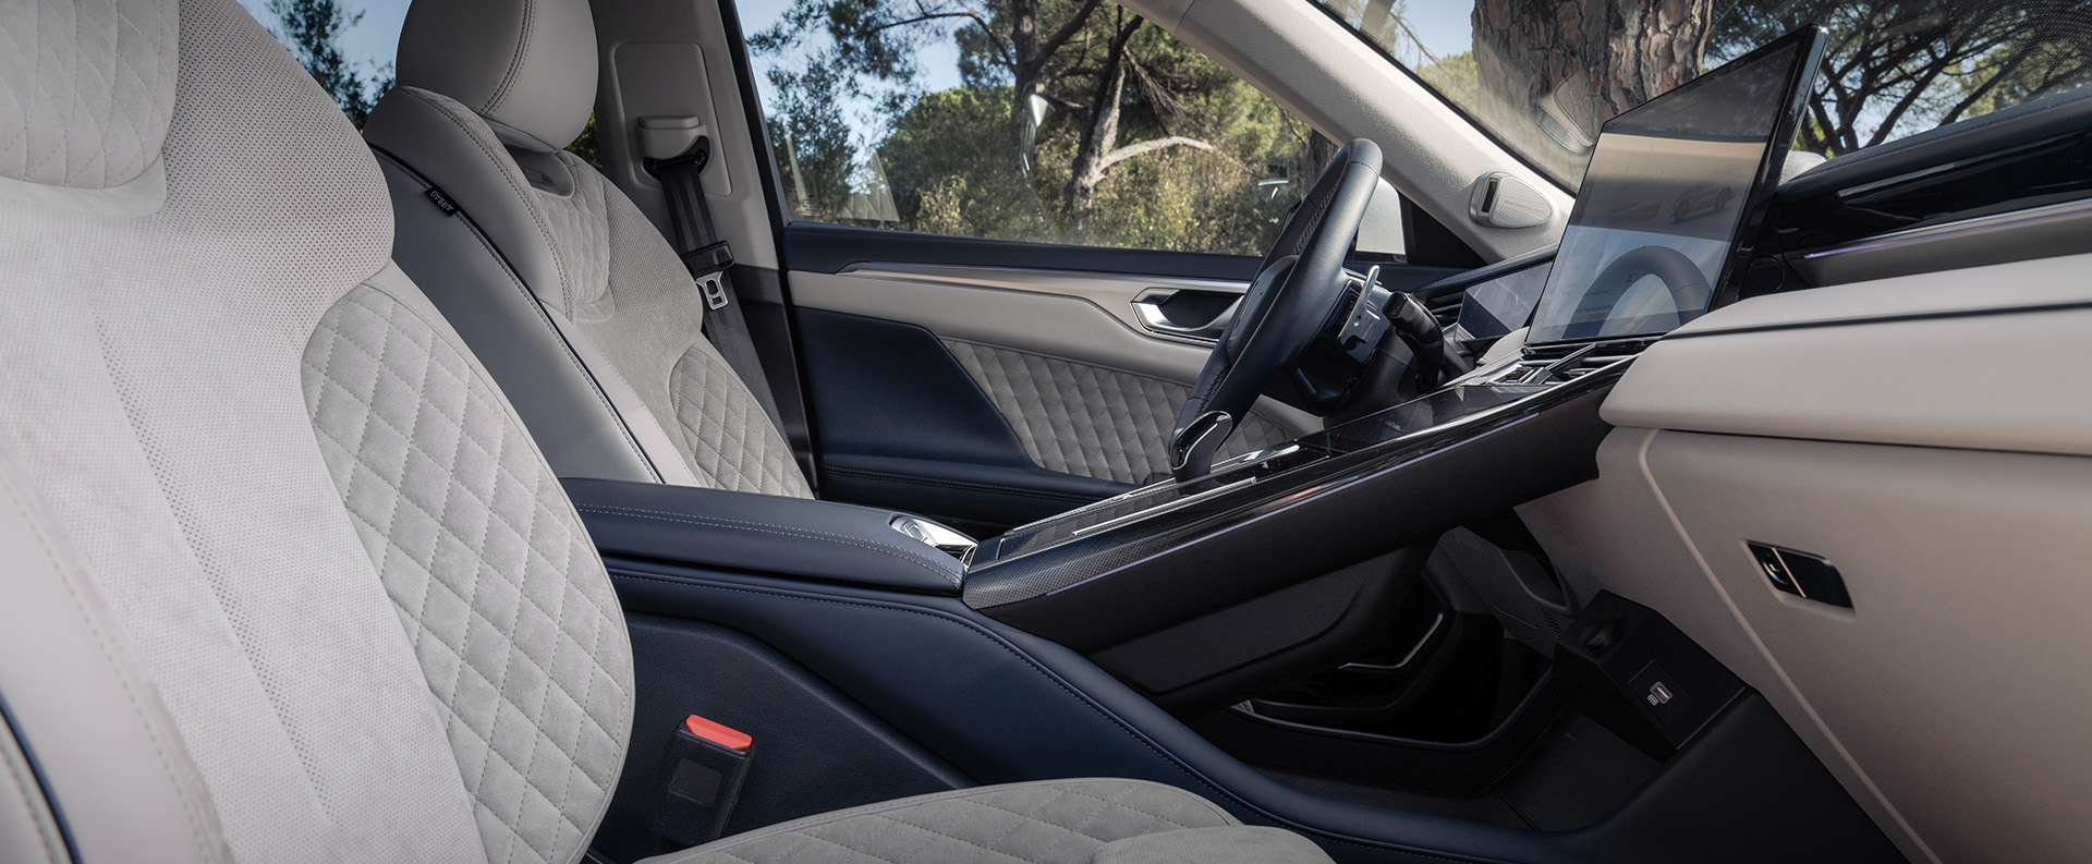
[(784, 435), (726, 360), (692, 345), (667, 389), (699, 477), (720, 490), (814, 498)]

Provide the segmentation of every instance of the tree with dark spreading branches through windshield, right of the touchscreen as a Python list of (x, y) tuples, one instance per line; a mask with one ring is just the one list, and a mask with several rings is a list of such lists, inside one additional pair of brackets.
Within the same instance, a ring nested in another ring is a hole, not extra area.
[(2017, 105), (2092, 77), (2092, 0), (1751, 0), (1722, 21), (1741, 54), (1830, 27), (1801, 146), (1826, 155)]

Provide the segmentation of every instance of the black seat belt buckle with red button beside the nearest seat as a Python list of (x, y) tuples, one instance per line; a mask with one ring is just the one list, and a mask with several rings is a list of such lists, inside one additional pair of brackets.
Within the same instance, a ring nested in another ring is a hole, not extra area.
[(682, 845), (711, 843), (741, 799), (755, 738), (690, 715), (669, 738), (646, 831)]

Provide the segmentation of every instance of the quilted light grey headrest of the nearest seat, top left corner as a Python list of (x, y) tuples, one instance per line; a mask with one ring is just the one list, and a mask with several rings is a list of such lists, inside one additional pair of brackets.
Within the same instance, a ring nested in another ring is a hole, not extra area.
[(0, 2), (0, 178), (111, 188), (157, 163), (176, 17), (174, 0)]

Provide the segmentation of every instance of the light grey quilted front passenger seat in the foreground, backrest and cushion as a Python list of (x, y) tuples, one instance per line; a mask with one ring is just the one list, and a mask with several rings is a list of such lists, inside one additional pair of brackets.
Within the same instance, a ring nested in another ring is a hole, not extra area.
[[(623, 615), (391, 234), (370, 151), (234, 0), (0, 2), (0, 860), (584, 854)], [(1172, 856), (1320, 851), (1059, 780), (672, 860)]]

